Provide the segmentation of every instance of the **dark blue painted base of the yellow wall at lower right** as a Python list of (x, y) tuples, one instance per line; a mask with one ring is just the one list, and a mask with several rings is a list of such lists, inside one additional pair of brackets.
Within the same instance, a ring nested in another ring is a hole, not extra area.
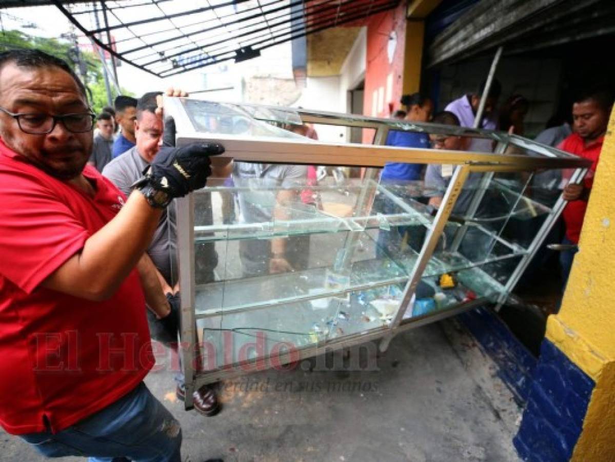
[(538, 360), (488, 308), (458, 316), (498, 364), (498, 376), (525, 404), (513, 443), (528, 462), (569, 460), (576, 445), (594, 381), (549, 340)]

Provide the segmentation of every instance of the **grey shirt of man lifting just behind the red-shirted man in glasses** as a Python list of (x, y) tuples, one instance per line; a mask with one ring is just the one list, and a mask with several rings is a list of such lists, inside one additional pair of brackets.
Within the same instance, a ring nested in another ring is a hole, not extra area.
[[(109, 162), (102, 173), (128, 196), (130, 185), (141, 177), (147, 166), (148, 162), (143, 160), (138, 153), (137, 146), (134, 146)], [(175, 204), (173, 203), (162, 212), (148, 248), (149, 257), (170, 286), (177, 283), (178, 276), (176, 223)]]

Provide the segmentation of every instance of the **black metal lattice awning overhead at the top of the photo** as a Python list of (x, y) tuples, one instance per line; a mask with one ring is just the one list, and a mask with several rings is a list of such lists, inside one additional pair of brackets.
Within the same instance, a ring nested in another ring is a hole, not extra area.
[[(226, 60), (392, 9), (399, 0), (53, 1), (117, 58), (159, 77)], [(113, 47), (109, 47), (113, 37)]]

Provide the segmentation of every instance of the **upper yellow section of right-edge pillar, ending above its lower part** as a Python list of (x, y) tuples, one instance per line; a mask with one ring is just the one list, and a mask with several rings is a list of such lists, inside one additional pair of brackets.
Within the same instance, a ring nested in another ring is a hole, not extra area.
[[(615, 361), (615, 111), (600, 154), (579, 253), (547, 338), (594, 380)], [(615, 386), (615, 384), (614, 384)]]

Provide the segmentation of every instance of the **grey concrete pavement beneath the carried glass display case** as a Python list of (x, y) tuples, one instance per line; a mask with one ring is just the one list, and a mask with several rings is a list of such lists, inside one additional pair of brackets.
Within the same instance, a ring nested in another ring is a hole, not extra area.
[[(375, 362), (365, 356), (358, 371), (319, 370), (319, 359), (224, 383), (215, 417), (185, 412), (169, 371), (146, 383), (180, 420), (186, 461), (519, 460), (512, 437), (520, 409), (456, 321), (397, 335)], [(365, 360), (377, 370), (365, 370)], [(3, 432), (0, 445), (2, 461), (44, 460)]]

